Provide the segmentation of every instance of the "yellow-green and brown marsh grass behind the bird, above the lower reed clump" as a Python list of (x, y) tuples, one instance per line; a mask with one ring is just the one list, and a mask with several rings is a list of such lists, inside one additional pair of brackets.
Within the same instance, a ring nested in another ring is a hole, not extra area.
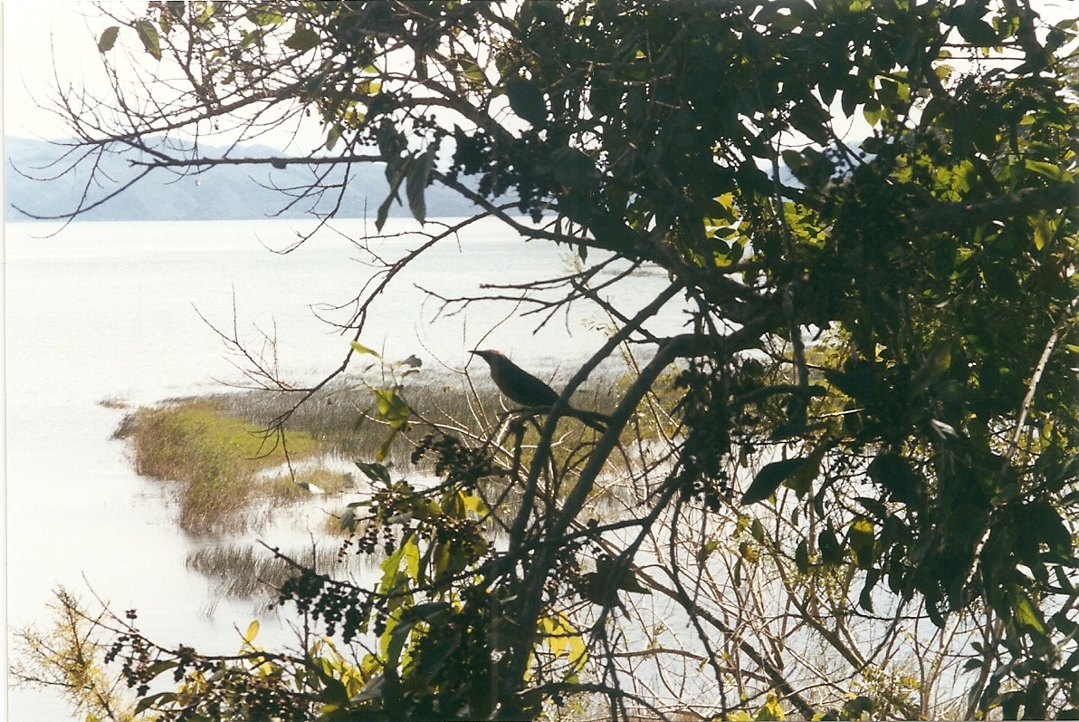
[[(609, 373), (592, 391), (578, 392), (574, 406), (610, 410), (628, 380), (624, 373)], [(505, 418), (502, 396), (486, 372), (469, 385), (457, 376), (428, 374), (410, 381), (401, 395), (423, 421), (411, 424), (390, 447), (383, 463), (393, 468), (431, 473), (429, 459), (411, 463), (409, 440), (435, 426), (486, 438)], [(357, 475), (338, 469), (355, 461), (373, 461), (391, 434), (373, 419), (371, 389), (358, 378), (320, 390), (292, 411), (284, 435), (268, 434), (265, 430), (298, 400), (296, 394), (260, 391), (174, 399), (128, 414), (115, 436), (129, 440), (139, 474), (177, 482), (178, 522), (183, 530), (197, 535), (237, 532), (268, 520), (275, 507), (310, 501), (311, 487), (316, 488), (315, 495), (349, 491)], [(593, 433), (573, 420), (565, 424), (566, 448)], [(537, 435), (537, 424), (524, 424), (524, 464)], [(511, 513), (513, 495), (506, 501)]]

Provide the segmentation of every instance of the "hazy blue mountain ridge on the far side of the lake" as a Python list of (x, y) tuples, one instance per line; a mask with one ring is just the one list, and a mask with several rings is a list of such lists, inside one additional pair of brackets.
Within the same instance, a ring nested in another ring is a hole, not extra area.
[[(31, 220), (32, 216), (58, 216), (79, 206), (85, 192), (95, 203), (132, 180), (138, 168), (128, 162), (131, 152), (104, 156), (97, 168), (100, 180), (86, 189), (91, 159), (72, 171), (57, 174), (70, 165), (64, 159), (69, 148), (44, 140), (4, 137), (4, 212), (9, 221)], [(201, 146), (207, 156), (221, 156), (226, 149)], [(233, 149), (231, 158), (281, 155), (265, 146)], [(323, 172), (325, 172), (323, 166)], [(355, 165), (349, 178), (341, 208), (342, 218), (374, 218), (390, 187), (381, 164)], [(343, 168), (329, 173), (324, 183), (340, 183)], [(312, 169), (302, 164), (284, 168), (270, 165), (223, 165), (187, 175), (159, 169), (139, 180), (114, 199), (79, 216), (81, 220), (240, 220), (269, 217), (302, 218), (314, 205), (329, 212), (338, 192), (330, 189), (317, 201), (305, 199), (289, 207), (292, 199), (283, 190), (299, 189), (314, 179)], [(401, 189), (405, 200), (405, 189)], [(467, 216), (475, 212), (468, 201), (438, 186), (427, 188), (427, 217)], [(406, 202), (407, 203), (407, 202)], [(21, 210), (23, 213), (21, 213)], [(407, 205), (394, 203), (391, 216), (409, 216)]]

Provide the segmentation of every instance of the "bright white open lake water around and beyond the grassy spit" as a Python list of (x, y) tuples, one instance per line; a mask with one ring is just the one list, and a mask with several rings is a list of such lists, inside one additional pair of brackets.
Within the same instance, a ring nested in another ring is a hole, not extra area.
[[(349, 336), (320, 321), (346, 322), (347, 306), (373, 273), (351, 239), (373, 233), (341, 221), (291, 254), (277, 255), (297, 221), (73, 223), (54, 237), (41, 224), (5, 226), (8, 625), (49, 624), (58, 586), (84, 600), (92, 592), (114, 611), (139, 611), (139, 626), (158, 642), (232, 653), (256, 618), (250, 604), (218, 600), (206, 578), (185, 569), (200, 540), (181, 533), (164, 487), (137, 476), (122, 441), (110, 436), (131, 405), (221, 391), (243, 376), (227, 348), (200, 318), (241, 338), (275, 331), (284, 377), (319, 378), (340, 365)], [(391, 220), (387, 234), (414, 229)], [(429, 224), (428, 224), (429, 228)], [(372, 242), (383, 258), (415, 248), (415, 237)], [(603, 318), (582, 308), (558, 314), (533, 333), (525, 309), (486, 302), (439, 314), (443, 297), (502, 294), (483, 284), (513, 284), (565, 273), (569, 250), (523, 244), (496, 222), (447, 239), (395, 278), (371, 310), (361, 341), (388, 359), (416, 354), (425, 369), (460, 370), (467, 350), (500, 349), (522, 365), (564, 381), (572, 360), (604, 340)], [(617, 294), (626, 305), (647, 303), (663, 275), (638, 275)], [(234, 311), (235, 309), (235, 311)], [(197, 310), (197, 311), (196, 311)], [(632, 310), (632, 309), (631, 309)], [(679, 323), (677, 308), (658, 324)], [(486, 372), (482, 365), (472, 372)], [(265, 535), (272, 531), (264, 532)], [(268, 541), (274, 539), (268, 536)], [(275, 616), (262, 616), (259, 641), (290, 639)], [(10, 637), (9, 637), (10, 645)], [(73, 719), (57, 696), (9, 691), (9, 719)]]

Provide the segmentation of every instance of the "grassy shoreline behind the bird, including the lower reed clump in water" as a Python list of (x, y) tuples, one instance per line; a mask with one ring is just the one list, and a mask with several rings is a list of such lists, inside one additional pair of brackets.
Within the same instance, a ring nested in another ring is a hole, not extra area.
[[(463, 436), (487, 436), (498, 424), (505, 407), (486, 374), (477, 381), (466, 385), (460, 377), (413, 380), (401, 393), (423, 421), (411, 424), (408, 439), (429, 433), (429, 424), (447, 426)], [(607, 410), (626, 382), (625, 374), (611, 373), (596, 384), (602, 391), (582, 391), (574, 405)], [(261, 531), (278, 513), (289, 515), (283, 521), (290, 527), (304, 516), (310, 522), (317, 505), (325, 521), (320, 533), (317, 521), (314, 527), (309, 523), (309, 529), (316, 530), (319, 541), (311, 539), (291, 556), (317, 554), (319, 566), (327, 569), (356, 563), (355, 559), (342, 560), (336, 543), (323, 544), (320, 540), (341, 533), (336, 515), (354, 501), (342, 494), (366, 487), (355, 462), (372, 461), (390, 434), (387, 426), (367, 414), (373, 404), (371, 389), (351, 379), (308, 399), (289, 418), (284, 437), (268, 436), (264, 430), (298, 399), (297, 394), (260, 391), (167, 399), (129, 411), (114, 433), (127, 442), (138, 474), (173, 487), (178, 526), (192, 537), (204, 540), (189, 553), (188, 569), (205, 576), (217, 598), (249, 600), (262, 611), (273, 599), (274, 582), (291, 569), (242, 533)], [(106, 403), (110, 408), (124, 408), (117, 399)], [(592, 432), (582, 427), (582, 433)], [(284, 449), (288, 450), (287, 460)], [(412, 464), (412, 449), (404, 438), (391, 447), (384, 463), (395, 476), (434, 472), (428, 459)], [(507, 500), (510, 514), (515, 502)], [(596, 504), (602, 514), (617, 514), (623, 508), (609, 490), (598, 493)], [(366, 557), (360, 561), (369, 563)], [(365, 572), (370, 570), (351, 570), (354, 574)]]

